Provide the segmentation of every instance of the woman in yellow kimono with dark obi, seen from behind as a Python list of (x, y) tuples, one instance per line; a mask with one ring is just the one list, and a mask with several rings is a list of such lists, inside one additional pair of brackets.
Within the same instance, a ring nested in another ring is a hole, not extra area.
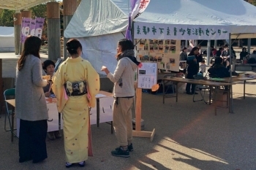
[(74, 163), (83, 167), (92, 155), (89, 107), (95, 106), (99, 93), (99, 74), (80, 57), (82, 45), (77, 39), (69, 39), (66, 47), (71, 57), (53, 75), (52, 89), (63, 117), (66, 167)]

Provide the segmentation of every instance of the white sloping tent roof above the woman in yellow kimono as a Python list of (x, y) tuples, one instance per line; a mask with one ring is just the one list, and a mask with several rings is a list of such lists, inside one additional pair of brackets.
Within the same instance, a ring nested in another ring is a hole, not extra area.
[(83, 0), (75, 11), (65, 37), (98, 36), (127, 28), (129, 0)]

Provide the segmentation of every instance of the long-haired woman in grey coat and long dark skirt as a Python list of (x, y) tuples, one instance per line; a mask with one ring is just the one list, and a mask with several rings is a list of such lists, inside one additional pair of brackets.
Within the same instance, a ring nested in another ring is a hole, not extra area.
[(15, 115), (20, 119), (19, 162), (39, 163), (48, 158), (46, 134), (48, 109), (42, 87), (41, 39), (28, 36), (16, 69)]

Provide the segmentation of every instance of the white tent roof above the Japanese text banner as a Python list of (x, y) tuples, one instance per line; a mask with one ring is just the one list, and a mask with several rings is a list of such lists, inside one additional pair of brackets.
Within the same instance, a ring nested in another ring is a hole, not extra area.
[(231, 33), (256, 32), (256, 7), (244, 0), (151, 0), (136, 22), (229, 26)]

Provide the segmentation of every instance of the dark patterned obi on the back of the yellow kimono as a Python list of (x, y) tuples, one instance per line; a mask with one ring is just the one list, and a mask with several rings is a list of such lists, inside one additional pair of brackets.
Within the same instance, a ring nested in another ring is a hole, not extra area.
[(86, 82), (69, 82), (64, 84), (67, 96), (82, 96), (87, 93)]

